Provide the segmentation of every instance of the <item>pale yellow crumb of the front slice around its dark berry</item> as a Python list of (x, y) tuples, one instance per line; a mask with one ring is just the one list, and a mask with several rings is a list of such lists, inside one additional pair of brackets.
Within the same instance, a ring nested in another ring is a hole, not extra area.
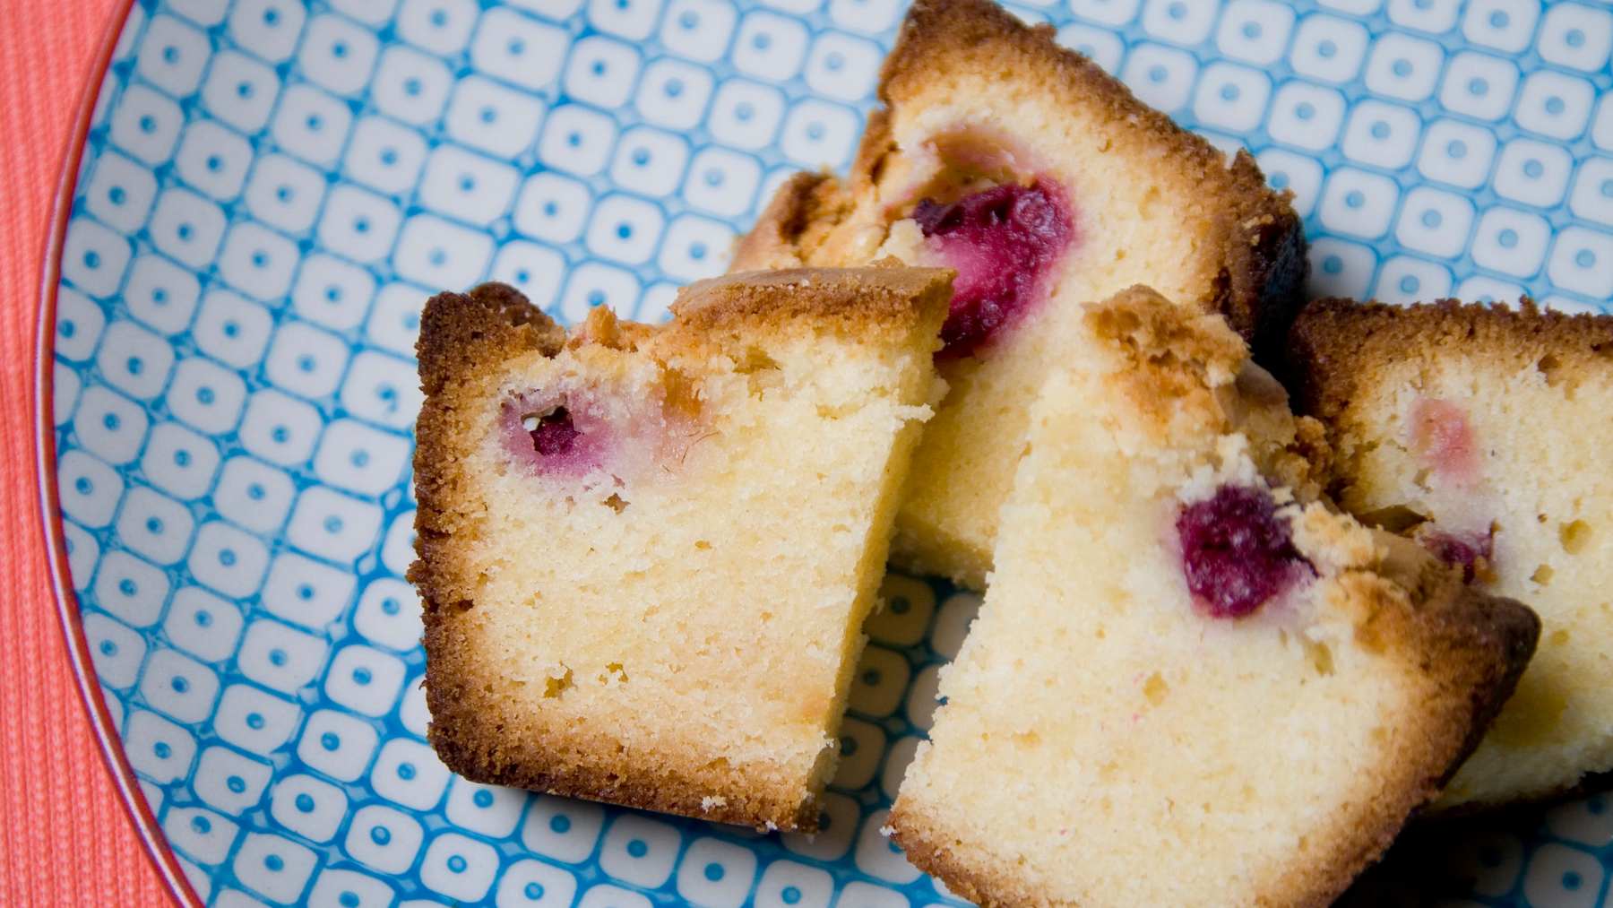
[[(1232, 342), (1211, 319), (1200, 331)], [(1252, 366), (1234, 381), (1210, 361), (1203, 390), (1171, 397), (1095, 347), (1068, 345), (1031, 408), (995, 574), (942, 673), (897, 835), (1005, 903), (1315, 897), (1366, 860), (1368, 805), (1407, 789), (1436, 710), (1410, 660), (1357, 631), (1363, 602), (1408, 603), (1379, 574), (1386, 537), (1277, 487), (1316, 576), (1253, 616), (1203, 614), (1181, 506), (1269, 487), (1295, 421), (1281, 392), (1244, 394), (1269, 390)]]

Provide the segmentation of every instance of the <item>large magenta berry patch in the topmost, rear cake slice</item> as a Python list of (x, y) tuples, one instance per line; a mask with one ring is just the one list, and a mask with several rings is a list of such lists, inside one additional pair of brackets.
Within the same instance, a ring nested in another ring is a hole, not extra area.
[(937, 356), (969, 356), (1045, 294), (1044, 277), (1074, 237), (1057, 185), (1002, 184), (950, 205), (924, 198), (913, 219), (929, 248), (957, 269)]

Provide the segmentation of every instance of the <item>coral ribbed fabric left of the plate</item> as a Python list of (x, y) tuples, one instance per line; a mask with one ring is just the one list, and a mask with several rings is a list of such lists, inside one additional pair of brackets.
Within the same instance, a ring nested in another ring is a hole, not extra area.
[(90, 66), (124, 6), (0, 2), (0, 905), (169, 902), (68, 661), (34, 455), (45, 231)]

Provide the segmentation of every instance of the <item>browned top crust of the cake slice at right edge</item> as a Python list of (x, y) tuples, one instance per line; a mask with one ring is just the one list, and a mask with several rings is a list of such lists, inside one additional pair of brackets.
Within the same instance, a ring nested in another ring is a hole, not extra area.
[[(1307, 413), (1332, 423), (1394, 361), (1453, 352), (1516, 369), (1613, 368), (1613, 316), (1437, 300), (1415, 306), (1326, 298), (1305, 305), (1289, 331), (1287, 376)], [(1550, 377), (1550, 376), (1548, 376)]]

